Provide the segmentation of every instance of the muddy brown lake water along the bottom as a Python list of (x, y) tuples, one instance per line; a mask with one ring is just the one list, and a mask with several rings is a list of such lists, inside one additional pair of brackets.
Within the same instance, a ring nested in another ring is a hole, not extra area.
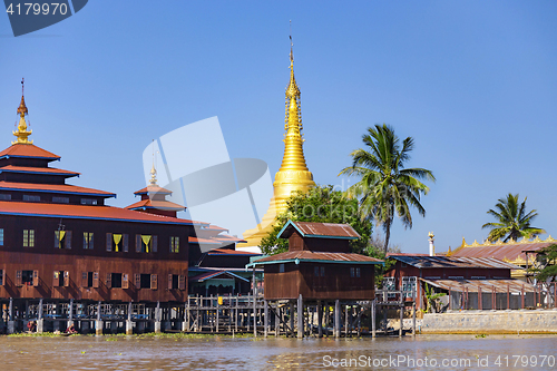
[(346, 340), (0, 336), (2, 371), (551, 370), (557, 369), (556, 357), (557, 336), (551, 335), (407, 335)]

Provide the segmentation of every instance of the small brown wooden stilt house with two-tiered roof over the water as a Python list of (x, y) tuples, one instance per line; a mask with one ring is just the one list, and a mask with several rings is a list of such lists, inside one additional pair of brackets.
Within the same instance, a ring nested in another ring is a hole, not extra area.
[(382, 261), (350, 252), (360, 235), (348, 224), (289, 221), (277, 235), (289, 251), (247, 266), (264, 266), (265, 300), (373, 300), (374, 265)]

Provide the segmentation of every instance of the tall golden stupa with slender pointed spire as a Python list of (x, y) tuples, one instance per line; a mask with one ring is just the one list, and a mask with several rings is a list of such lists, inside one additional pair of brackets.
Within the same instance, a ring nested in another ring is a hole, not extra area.
[(281, 168), (275, 174), (273, 183), (274, 196), (267, 212), (261, 223), (253, 230), (244, 232), (244, 240), (247, 243), (241, 243), (238, 247), (254, 247), (261, 244), (272, 230), (276, 215), (286, 211), (286, 199), (292, 192), (306, 192), (315, 186), (313, 175), (305, 165), (302, 136), (302, 109), (300, 101), (300, 88), (294, 78), (294, 56), (292, 45), (290, 49), (290, 82), (286, 87), (286, 118), (284, 129), (284, 156)]

